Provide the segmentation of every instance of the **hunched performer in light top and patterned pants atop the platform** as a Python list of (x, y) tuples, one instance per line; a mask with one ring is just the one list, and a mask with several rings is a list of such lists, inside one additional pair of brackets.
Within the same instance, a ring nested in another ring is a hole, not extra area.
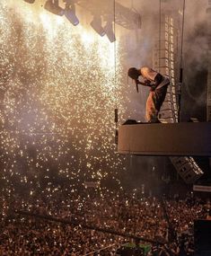
[[(161, 75), (148, 66), (142, 66), (140, 69), (130, 67), (127, 75), (135, 80), (136, 90), (138, 92), (138, 84), (150, 87), (145, 105), (145, 119), (149, 123), (160, 122), (158, 119), (158, 112), (164, 102), (170, 80), (167, 76)], [(141, 75), (142, 81), (138, 80)]]

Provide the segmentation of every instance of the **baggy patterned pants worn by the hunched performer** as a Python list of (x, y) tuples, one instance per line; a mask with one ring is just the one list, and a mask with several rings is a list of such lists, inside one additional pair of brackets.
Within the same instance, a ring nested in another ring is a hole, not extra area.
[(165, 100), (168, 85), (155, 89), (149, 93), (145, 106), (145, 119), (147, 122), (158, 122), (158, 112)]

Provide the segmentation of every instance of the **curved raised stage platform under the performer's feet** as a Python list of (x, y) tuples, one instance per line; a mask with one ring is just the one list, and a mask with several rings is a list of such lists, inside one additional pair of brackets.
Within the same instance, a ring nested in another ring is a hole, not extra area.
[(211, 122), (122, 125), (119, 127), (118, 152), (211, 156)]

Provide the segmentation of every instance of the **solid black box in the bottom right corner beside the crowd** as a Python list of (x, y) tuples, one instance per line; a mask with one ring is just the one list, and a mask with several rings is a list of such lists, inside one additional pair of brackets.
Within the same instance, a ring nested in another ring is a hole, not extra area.
[(195, 256), (211, 255), (211, 220), (194, 221)]

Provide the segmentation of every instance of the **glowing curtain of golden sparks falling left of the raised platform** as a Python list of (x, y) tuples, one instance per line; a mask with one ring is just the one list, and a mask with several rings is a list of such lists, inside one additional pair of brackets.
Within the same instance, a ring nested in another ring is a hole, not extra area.
[(123, 166), (114, 145), (113, 112), (123, 109), (118, 42), (115, 50), (23, 1), (0, 7), (2, 173), (20, 182), (30, 182), (28, 171), (78, 183), (114, 176)]

